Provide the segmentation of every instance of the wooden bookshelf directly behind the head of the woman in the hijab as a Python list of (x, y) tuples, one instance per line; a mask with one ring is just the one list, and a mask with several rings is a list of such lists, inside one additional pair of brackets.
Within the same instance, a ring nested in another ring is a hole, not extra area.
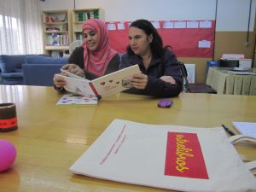
[(102, 8), (73, 9), (72, 12), (73, 40), (82, 40), (82, 25), (85, 20), (100, 19), (105, 20)]

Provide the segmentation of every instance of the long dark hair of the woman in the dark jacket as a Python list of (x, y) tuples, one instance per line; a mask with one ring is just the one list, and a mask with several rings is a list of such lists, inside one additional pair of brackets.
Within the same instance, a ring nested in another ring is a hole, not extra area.
[[(160, 58), (167, 47), (163, 47), (163, 41), (162, 38), (160, 37), (159, 33), (157, 30), (154, 28), (152, 23), (148, 20), (135, 20), (131, 23), (129, 27), (137, 27), (138, 29), (143, 30), (143, 32), (146, 33), (146, 35), (152, 35), (153, 39), (152, 42), (150, 43), (150, 49), (152, 52), (152, 55), (154, 58)], [(169, 47), (169, 46), (168, 46)], [(135, 55), (133, 50), (131, 49), (131, 45), (129, 44), (126, 49), (128, 55)]]

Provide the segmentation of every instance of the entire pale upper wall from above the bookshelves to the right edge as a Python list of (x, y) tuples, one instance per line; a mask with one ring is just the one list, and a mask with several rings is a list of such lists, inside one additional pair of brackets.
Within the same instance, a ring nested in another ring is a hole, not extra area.
[[(214, 20), (217, 0), (45, 0), (42, 9), (98, 8), (106, 21)], [(250, 0), (218, 0), (216, 31), (247, 31)], [(253, 32), (256, 0), (252, 3)]]

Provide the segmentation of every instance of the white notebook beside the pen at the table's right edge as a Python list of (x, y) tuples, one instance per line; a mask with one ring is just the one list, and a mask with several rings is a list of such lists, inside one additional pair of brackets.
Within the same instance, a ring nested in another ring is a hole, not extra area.
[(232, 124), (242, 135), (256, 139), (256, 123), (234, 121)]

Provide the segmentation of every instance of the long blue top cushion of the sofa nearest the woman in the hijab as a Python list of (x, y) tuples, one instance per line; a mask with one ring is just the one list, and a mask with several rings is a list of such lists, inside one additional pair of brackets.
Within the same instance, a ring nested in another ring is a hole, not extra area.
[(66, 64), (67, 57), (45, 57), (37, 55), (26, 55), (26, 64)]

